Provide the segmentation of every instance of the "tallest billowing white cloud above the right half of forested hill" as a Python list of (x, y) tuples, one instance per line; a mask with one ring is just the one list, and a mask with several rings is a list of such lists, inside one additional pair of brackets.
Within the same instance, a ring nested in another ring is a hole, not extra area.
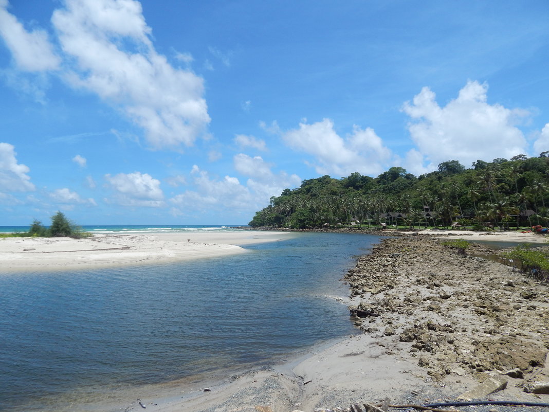
[(412, 118), (408, 130), (418, 151), (434, 170), (446, 160), (469, 166), (477, 159), (511, 158), (526, 153), (523, 133), (516, 127), (529, 113), (487, 103), (488, 86), (469, 81), (445, 107), (428, 87), (406, 102), (402, 110)]

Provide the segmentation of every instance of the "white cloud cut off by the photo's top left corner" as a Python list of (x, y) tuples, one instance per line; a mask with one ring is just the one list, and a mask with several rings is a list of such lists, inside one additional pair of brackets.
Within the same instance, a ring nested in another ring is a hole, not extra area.
[(12, 52), (20, 69), (25, 71), (55, 70), (60, 59), (53, 53), (44, 30), (25, 30), (23, 24), (7, 10), (8, 2), (0, 2), (0, 36)]

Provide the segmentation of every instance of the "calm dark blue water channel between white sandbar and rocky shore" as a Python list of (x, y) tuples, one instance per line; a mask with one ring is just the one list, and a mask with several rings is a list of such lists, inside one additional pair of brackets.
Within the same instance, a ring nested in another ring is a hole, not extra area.
[(82, 410), (85, 398), (226, 375), (354, 333), (326, 294), (348, 294), (341, 277), (378, 238), (295, 235), (234, 257), (3, 275), (0, 409)]

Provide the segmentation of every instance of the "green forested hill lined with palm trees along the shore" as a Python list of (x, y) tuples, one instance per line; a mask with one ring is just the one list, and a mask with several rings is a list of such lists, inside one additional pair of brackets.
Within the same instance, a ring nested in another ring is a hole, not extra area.
[(285, 189), (250, 226), (528, 226), (549, 223), (549, 152), (539, 157), (457, 160), (416, 177), (393, 167), (378, 177), (326, 175)]

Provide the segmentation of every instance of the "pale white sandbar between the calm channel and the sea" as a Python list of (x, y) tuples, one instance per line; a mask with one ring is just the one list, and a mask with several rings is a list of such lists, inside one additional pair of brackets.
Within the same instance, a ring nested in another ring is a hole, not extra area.
[(92, 269), (168, 263), (245, 253), (242, 246), (271, 242), (291, 233), (260, 231), (108, 233), (67, 237), (0, 239), (0, 272)]

